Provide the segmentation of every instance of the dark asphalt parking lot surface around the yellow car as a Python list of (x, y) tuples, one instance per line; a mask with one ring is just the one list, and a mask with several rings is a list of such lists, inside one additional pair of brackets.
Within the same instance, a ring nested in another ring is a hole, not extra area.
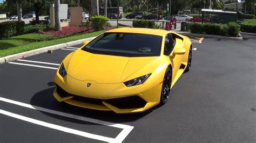
[(117, 115), (60, 104), (67, 47), (0, 65), (0, 142), (256, 142), (256, 40), (193, 39), (192, 68), (163, 106)]

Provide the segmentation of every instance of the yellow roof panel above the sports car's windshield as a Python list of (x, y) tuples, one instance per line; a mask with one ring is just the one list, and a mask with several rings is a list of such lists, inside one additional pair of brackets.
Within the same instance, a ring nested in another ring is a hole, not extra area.
[(165, 37), (165, 35), (167, 33), (170, 33), (171, 31), (160, 30), (160, 29), (151, 29), (151, 28), (124, 27), (124, 28), (115, 28), (113, 30), (106, 31), (106, 33), (108, 33), (108, 32), (150, 34), (150, 35), (159, 35), (159, 36)]

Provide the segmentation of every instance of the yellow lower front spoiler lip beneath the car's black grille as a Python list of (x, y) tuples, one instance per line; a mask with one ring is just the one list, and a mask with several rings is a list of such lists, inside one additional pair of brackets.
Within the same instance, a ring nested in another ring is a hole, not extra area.
[[(119, 109), (116, 106), (113, 106), (107, 102), (102, 101), (102, 105), (99, 104), (92, 104), (92, 103), (86, 103), (77, 101), (74, 98), (74, 96), (68, 96), (68, 97), (60, 97), (56, 91), (56, 88), (53, 92), (53, 96), (57, 99), (58, 102), (65, 102), (71, 105), (79, 106), (81, 108), (87, 108), (87, 109), (93, 109), (93, 110), (102, 110), (102, 111), (114, 111), (116, 113), (133, 113), (133, 112), (143, 112), (147, 109), (150, 109), (152, 106), (157, 105), (158, 102), (150, 102), (146, 103), (145, 106), (142, 108), (132, 108), (132, 109)], [(132, 103), (131, 103), (132, 104)]]

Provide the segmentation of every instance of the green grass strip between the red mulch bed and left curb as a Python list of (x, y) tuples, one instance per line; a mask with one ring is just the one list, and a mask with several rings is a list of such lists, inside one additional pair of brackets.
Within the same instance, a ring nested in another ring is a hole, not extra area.
[(44, 34), (24, 34), (12, 38), (1, 39), (0, 57), (51, 45), (62, 44), (69, 41), (95, 37), (103, 32), (105, 32), (105, 30), (87, 34), (76, 34), (58, 39), (52, 39), (53, 37), (51, 35)]

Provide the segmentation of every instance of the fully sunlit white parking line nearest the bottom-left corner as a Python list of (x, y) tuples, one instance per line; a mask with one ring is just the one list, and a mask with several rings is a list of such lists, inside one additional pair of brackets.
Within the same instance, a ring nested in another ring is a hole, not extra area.
[(101, 141), (106, 141), (106, 142), (113, 142), (114, 141), (113, 138), (104, 137), (102, 135), (86, 133), (86, 132), (78, 131), (78, 130), (75, 130), (75, 129), (72, 129), (72, 128), (47, 123), (45, 121), (36, 120), (36, 119), (29, 118), (29, 117), (17, 115), (15, 113), (11, 113), (11, 112), (8, 112), (8, 111), (2, 110), (2, 109), (0, 109), (0, 113), (2, 113), (3, 115), (6, 115), (6, 116), (10, 116), (10, 117), (20, 119), (20, 120), (28, 121), (28, 122), (33, 123), (33, 124), (53, 128), (55, 130), (63, 131), (63, 132), (66, 132), (66, 133), (72, 133), (72, 134), (80, 135), (82, 137), (86, 137), (86, 138), (90, 138), (90, 139), (96, 139), (96, 140), (101, 140)]

